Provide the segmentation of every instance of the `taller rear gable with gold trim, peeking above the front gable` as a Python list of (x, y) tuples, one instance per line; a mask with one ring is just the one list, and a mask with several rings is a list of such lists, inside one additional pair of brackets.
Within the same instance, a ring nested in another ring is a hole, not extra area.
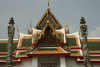
[(40, 19), (40, 21), (38, 22), (35, 28), (42, 30), (44, 26), (46, 25), (48, 18), (49, 18), (51, 25), (53, 26), (55, 30), (62, 28), (61, 24), (56, 19), (56, 17), (53, 15), (50, 9), (47, 9), (47, 11), (44, 13), (44, 15), (42, 16), (42, 18)]

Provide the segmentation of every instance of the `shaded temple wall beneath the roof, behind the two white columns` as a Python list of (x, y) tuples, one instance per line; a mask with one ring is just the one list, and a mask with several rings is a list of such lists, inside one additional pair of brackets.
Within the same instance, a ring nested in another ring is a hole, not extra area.
[[(66, 67), (85, 67), (83, 63), (76, 63), (75, 58), (65, 58)], [(60, 67), (60, 57), (59, 56), (40, 56), (38, 57), (38, 66), (41, 67), (41, 63), (57, 63), (57, 67)], [(92, 63), (94, 67), (100, 67), (99, 63)], [(5, 67), (6, 64), (0, 64), (0, 67)], [(16, 64), (13, 67), (33, 67), (32, 58), (22, 59), (22, 62)]]

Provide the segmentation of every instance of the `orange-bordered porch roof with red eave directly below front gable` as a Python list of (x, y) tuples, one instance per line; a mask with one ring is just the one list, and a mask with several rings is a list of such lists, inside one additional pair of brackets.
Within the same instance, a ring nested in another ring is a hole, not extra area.
[(63, 50), (61, 47), (37, 47), (33, 52), (28, 53), (29, 55), (36, 55), (39, 56), (40, 54), (66, 54), (70, 55), (70, 52)]

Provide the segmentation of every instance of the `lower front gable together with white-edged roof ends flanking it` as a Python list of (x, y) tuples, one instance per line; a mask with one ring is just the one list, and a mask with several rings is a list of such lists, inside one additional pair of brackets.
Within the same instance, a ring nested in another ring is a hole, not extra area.
[[(66, 26), (65, 26), (66, 27)], [(47, 18), (43, 30), (34, 29), (32, 27), (32, 45), (38, 46), (60, 46), (66, 45), (65, 27), (55, 30)], [(32, 46), (31, 45), (31, 46)]]

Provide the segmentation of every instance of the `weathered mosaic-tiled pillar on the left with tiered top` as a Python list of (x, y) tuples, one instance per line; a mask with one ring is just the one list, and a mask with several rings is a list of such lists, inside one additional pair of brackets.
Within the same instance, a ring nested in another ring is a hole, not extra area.
[(14, 37), (14, 20), (10, 19), (10, 26), (8, 26), (8, 45), (7, 45), (7, 58), (6, 58), (6, 67), (13, 67), (13, 56), (12, 56), (12, 46), (13, 46), (13, 37)]

